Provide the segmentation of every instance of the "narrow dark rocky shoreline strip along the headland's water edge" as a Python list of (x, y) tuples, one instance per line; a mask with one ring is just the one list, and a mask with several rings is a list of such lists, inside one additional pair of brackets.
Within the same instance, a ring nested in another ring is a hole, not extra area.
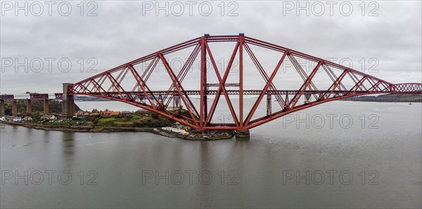
[[(211, 136), (211, 137), (193, 137), (190, 135), (179, 134), (176, 132), (168, 132), (161, 127), (87, 127), (87, 126), (58, 126), (58, 125), (44, 125), (44, 124), (33, 124), (27, 122), (0, 122), (0, 124), (6, 125), (16, 125), (21, 127), (33, 128), (33, 129), (41, 129), (44, 131), (58, 131), (58, 132), (82, 132), (82, 133), (89, 133), (89, 132), (149, 132), (152, 134), (157, 134), (163, 137), (169, 138), (179, 138), (191, 141), (215, 141), (215, 140), (224, 140), (224, 139), (231, 139), (234, 137), (234, 134), (231, 132), (226, 132), (224, 135), (221, 136)], [(155, 131), (154, 129), (158, 130)]]

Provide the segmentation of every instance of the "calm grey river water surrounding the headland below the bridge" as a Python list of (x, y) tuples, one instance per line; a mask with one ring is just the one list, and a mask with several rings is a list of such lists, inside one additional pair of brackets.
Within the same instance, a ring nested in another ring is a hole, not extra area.
[(421, 208), (421, 118), (421, 103), (335, 101), (225, 141), (6, 125), (1, 208)]

